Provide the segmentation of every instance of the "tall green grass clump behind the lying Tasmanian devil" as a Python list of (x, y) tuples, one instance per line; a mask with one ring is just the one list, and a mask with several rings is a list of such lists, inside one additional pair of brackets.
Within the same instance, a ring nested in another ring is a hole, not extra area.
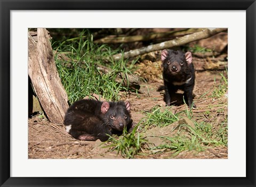
[[(130, 73), (123, 58), (118, 61), (110, 60), (107, 66), (112, 71), (107, 74), (103, 74), (96, 66), (106, 66), (103, 59), (121, 51), (111, 50), (107, 45), (93, 44), (93, 36), (87, 30), (76, 38), (62, 41), (59, 45), (54, 43), (53, 46), (57, 46), (54, 48), (57, 52), (55, 62), (70, 104), (94, 93), (115, 101), (119, 99), (119, 91), (128, 89), (127, 86), (122, 86), (122, 82), (115, 81), (118, 73)], [(60, 60), (57, 58), (58, 54), (65, 54), (69, 61)]]

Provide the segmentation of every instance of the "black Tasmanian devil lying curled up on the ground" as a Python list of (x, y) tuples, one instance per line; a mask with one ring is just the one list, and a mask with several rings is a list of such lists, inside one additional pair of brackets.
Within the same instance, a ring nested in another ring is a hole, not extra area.
[(66, 131), (78, 140), (108, 140), (109, 135), (122, 134), (133, 128), (129, 101), (107, 102), (82, 99), (66, 112)]

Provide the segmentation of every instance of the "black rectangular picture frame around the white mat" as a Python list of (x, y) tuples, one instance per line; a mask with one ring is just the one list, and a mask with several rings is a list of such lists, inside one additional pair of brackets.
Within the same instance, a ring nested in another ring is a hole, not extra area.
[[(255, 186), (255, 0), (0, 0), (0, 6), (1, 186)], [(11, 10), (246, 10), (246, 177), (10, 177)]]

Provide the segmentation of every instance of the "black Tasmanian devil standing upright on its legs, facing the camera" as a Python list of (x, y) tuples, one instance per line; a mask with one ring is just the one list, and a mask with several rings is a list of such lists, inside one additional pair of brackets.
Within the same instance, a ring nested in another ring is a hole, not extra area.
[(161, 53), (165, 103), (170, 106), (171, 94), (178, 89), (184, 91), (184, 97), (189, 108), (193, 103), (193, 89), (195, 85), (195, 70), (192, 63), (192, 54), (181, 50), (164, 49)]

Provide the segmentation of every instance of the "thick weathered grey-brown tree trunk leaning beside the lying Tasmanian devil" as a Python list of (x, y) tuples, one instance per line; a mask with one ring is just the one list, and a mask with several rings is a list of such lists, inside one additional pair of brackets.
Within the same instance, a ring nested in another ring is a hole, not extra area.
[(62, 124), (68, 97), (55, 66), (46, 29), (37, 29), (37, 43), (28, 34), (28, 74), (44, 112), (53, 123)]

